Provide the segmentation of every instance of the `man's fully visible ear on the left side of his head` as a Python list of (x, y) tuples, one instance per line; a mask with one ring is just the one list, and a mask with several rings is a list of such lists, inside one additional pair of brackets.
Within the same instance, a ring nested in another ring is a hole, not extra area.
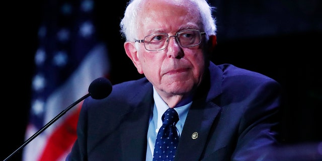
[(140, 74), (143, 74), (143, 70), (141, 67), (141, 63), (139, 61), (139, 55), (137, 52), (137, 49), (135, 48), (135, 43), (134, 42), (125, 42), (124, 43), (124, 49), (126, 52), (126, 55), (132, 60), (133, 64), (135, 65), (137, 71)]

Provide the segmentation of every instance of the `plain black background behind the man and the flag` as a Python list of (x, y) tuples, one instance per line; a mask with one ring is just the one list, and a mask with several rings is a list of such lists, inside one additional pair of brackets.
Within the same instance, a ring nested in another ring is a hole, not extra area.
[[(12, 1), (2, 14), (2, 152), (6, 158), (24, 142), (30, 109), (33, 56), (45, 1)], [(96, 2), (99, 39), (108, 46), (111, 82), (141, 77), (126, 56), (119, 28), (126, 2)], [(217, 47), (212, 60), (266, 74), (280, 82), (282, 141), (287, 145), (322, 141), (322, 66), (320, 0), (213, 0)], [(76, 100), (75, 100), (76, 101)], [(22, 151), (22, 150), (21, 150)], [(21, 152), (10, 160), (20, 160)]]

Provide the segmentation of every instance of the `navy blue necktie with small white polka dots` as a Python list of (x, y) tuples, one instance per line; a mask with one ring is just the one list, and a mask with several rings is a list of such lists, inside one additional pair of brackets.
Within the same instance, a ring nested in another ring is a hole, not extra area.
[(169, 108), (162, 115), (163, 125), (160, 127), (154, 145), (154, 161), (174, 160), (179, 136), (176, 123), (179, 121), (179, 115), (176, 110)]

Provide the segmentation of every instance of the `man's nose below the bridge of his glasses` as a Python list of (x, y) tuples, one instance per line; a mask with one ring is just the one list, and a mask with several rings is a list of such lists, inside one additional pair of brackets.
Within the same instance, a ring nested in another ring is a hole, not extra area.
[[(171, 38), (173, 38), (173, 40), (171, 40)], [(169, 36), (167, 56), (169, 58), (174, 57), (178, 59), (183, 57), (183, 51), (176, 36)]]

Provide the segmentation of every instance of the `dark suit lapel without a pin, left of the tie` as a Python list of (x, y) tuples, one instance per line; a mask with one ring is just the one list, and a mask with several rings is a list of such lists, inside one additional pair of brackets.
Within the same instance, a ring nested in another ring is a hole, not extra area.
[[(150, 88), (152, 89), (152, 88)], [(143, 90), (133, 98), (128, 111), (122, 116), (121, 135), (122, 159), (145, 160), (147, 129), (153, 108), (152, 90)]]

